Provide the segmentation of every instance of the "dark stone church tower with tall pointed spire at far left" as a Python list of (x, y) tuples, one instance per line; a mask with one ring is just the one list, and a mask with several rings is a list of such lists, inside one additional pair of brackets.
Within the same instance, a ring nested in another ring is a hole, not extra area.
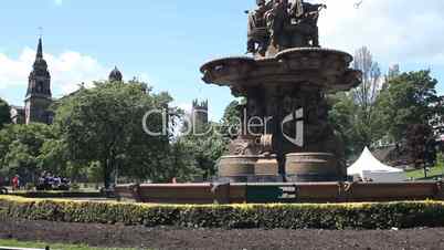
[(33, 70), (29, 76), (28, 92), (24, 100), (25, 123), (51, 124), (53, 119), (49, 107), (52, 103), (51, 75), (43, 59), (42, 38), (39, 39)]

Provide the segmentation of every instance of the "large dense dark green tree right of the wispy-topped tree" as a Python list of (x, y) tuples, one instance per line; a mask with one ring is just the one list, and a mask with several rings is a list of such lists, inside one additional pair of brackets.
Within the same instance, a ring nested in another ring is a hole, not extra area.
[(430, 121), (444, 115), (435, 88), (437, 81), (430, 73), (417, 71), (391, 77), (378, 98), (382, 127), (390, 138), (406, 146), (414, 163), (435, 158)]

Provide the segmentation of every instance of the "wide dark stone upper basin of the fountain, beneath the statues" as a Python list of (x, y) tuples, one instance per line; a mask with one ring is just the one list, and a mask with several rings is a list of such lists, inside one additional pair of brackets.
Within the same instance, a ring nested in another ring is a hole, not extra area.
[(358, 86), (362, 73), (350, 69), (353, 58), (345, 52), (320, 49), (288, 49), (272, 58), (225, 58), (201, 67), (203, 81), (231, 86), (242, 93), (250, 86), (288, 85), (316, 87), (326, 92)]

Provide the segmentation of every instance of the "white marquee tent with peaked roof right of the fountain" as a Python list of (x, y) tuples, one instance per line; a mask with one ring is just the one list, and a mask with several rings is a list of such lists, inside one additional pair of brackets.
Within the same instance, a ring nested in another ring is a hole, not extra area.
[(374, 183), (399, 183), (408, 179), (404, 170), (382, 164), (367, 147), (359, 159), (347, 169), (347, 174), (372, 179)]

